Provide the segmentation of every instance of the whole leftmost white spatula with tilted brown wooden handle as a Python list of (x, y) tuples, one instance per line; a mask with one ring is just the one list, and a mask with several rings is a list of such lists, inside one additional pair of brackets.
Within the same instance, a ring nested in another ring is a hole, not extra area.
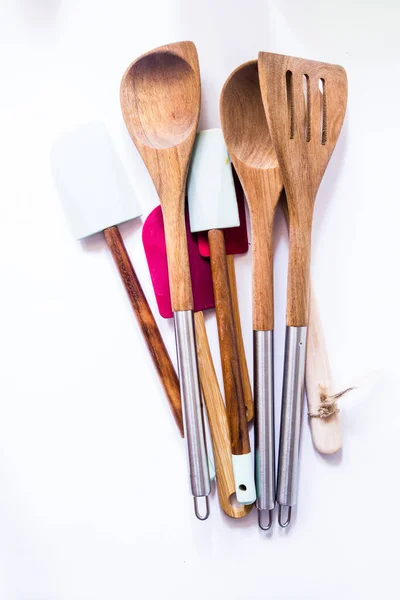
[(139, 217), (140, 206), (105, 126), (94, 121), (65, 133), (53, 146), (52, 168), (74, 237), (104, 234), (183, 435), (178, 378), (117, 227)]

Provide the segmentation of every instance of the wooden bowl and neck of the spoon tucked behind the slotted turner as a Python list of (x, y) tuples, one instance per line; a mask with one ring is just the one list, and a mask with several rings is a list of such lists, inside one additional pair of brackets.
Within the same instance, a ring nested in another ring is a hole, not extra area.
[(252, 60), (227, 79), (220, 101), (225, 141), (250, 210), (253, 259), (253, 329), (274, 327), (272, 227), (282, 191), (278, 160)]

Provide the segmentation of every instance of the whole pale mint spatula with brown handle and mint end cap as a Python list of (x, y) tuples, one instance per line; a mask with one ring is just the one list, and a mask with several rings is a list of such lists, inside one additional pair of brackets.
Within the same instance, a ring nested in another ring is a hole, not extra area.
[(236, 498), (256, 499), (246, 407), (223, 230), (239, 227), (232, 169), (220, 129), (197, 134), (188, 175), (190, 230), (208, 231)]

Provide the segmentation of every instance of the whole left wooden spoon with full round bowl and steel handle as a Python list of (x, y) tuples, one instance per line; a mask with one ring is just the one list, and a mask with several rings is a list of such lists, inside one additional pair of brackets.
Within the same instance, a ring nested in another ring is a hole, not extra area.
[[(135, 60), (121, 82), (122, 114), (160, 198), (195, 512), (207, 518), (210, 478), (197, 365), (185, 229), (185, 184), (200, 113), (200, 72), (192, 42), (162, 46)], [(205, 498), (201, 515), (198, 498)]]

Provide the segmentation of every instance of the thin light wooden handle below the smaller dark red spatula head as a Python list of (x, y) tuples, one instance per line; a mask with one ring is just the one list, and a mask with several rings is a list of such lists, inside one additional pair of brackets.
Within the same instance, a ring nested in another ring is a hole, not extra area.
[(239, 299), (235, 275), (235, 259), (233, 254), (228, 254), (226, 260), (228, 263), (229, 287), (231, 290), (233, 319), (235, 321), (236, 339), (239, 351), (240, 374), (242, 376), (244, 403), (246, 405), (246, 418), (247, 422), (250, 422), (254, 418), (254, 403), (253, 394), (251, 391), (249, 369), (247, 367), (246, 352), (243, 343), (242, 325), (240, 322)]

